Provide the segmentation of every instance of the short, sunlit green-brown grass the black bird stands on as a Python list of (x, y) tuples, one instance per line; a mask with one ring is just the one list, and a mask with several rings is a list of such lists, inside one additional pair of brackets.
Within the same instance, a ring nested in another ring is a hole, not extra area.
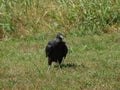
[(26, 39), (0, 42), (2, 90), (119, 90), (120, 33), (66, 35), (67, 58), (58, 70), (47, 71), (44, 48), (49, 37), (36, 34)]

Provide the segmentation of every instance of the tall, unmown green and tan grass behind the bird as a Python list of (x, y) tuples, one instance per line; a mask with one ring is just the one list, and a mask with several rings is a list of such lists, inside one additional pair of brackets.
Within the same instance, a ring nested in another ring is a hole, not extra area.
[(119, 6), (120, 0), (1, 0), (0, 30), (4, 36), (11, 32), (114, 32), (120, 27)]

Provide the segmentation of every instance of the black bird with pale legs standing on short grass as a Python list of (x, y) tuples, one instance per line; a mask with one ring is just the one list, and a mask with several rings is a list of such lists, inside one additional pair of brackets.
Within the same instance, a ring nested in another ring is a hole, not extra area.
[(60, 64), (65, 59), (68, 48), (63, 41), (63, 35), (58, 33), (56, 35), (56, 40), (51, 40), (48, 42), (46, 48), (46, 57), (48, 57), (48, 69), (50, 68), (52, 62), (57, 62), (60, 68)]

